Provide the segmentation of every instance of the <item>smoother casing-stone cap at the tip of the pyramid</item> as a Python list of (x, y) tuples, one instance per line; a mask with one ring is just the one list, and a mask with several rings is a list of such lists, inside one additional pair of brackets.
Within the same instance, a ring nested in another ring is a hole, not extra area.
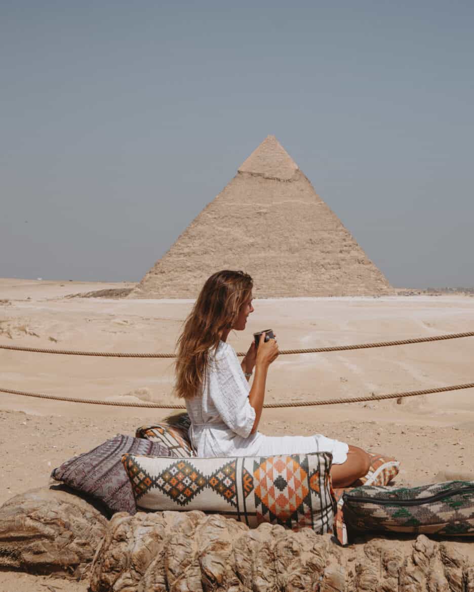
[(267, 136), (239, 167), (239, 173), (252, 173), (270, 179), (291, 179), (299, 170), (275, 136)]

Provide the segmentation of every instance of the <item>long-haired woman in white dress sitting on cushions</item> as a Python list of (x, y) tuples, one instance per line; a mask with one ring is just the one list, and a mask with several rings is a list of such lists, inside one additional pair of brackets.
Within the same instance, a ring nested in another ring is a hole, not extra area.
[[(350, 485), (369, 470), (369, 455), (322, 435), (264, 436), (257, 431), (276, 339), (248, 349), (240, 364), (228, 345), (230, 330), (243, 331), (252, 306), (252, 278), (241, 271), (212, 275), (178, 339), (178, 397), (186, 401), (190, 437), (198, 456), (271, 456), (331, 452), (334, 487)], [(255, 368), (252, 387), (248, 381)]]

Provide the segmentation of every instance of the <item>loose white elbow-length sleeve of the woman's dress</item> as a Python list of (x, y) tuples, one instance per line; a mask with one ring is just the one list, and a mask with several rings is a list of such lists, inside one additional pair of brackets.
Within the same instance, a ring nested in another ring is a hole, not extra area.
[(210, 396), (222, 421), (244, 438), (255, 423), (255, 409), (248, 400), (248, 382), (235, 352), (229, 345), (217, 355), (210, 368)]

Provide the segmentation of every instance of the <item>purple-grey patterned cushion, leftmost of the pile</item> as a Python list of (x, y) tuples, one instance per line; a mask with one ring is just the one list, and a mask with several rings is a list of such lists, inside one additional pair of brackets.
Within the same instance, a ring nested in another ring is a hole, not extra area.
[(121, 457), (127, 453), (170, 456), (165, 446), (117, 435), (90, 452), (71, 458), (51, 476), (69, 487), (102, 501), (111, 513), (125, 511), (136, 513), (132, 486), (123, 470)]

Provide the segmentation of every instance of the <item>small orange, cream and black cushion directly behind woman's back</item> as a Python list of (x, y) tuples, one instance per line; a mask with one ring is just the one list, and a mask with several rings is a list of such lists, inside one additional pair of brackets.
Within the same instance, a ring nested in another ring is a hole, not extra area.
[(190, 425), (191, 420), (188, 414), (180, 413), (167, 417), (161, 423), (139, 427), (135, 436), (160, 442), (171, 451), (171, 456), (175, 458), (190, 458), (190, 456), (196, 456), (188, 436)]

